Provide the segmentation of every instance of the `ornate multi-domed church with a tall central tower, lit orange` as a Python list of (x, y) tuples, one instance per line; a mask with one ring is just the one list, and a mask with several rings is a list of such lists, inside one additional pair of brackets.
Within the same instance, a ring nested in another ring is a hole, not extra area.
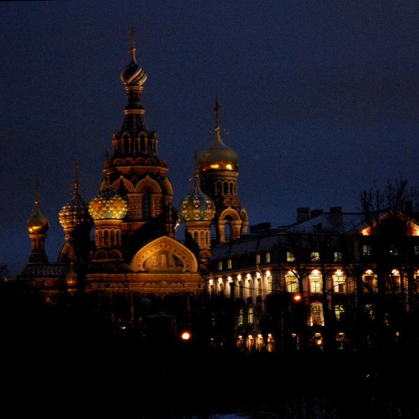
[[(159, 137), (149, 129), (141, 103), (147, 74), (135, 56), (133, 34), (130, 54), (120, 76), (127, 98), (124, 121), (112, 135), (98, 193), (89, 202), (80, 196), (76, 163), (73, 196), (59, 212), (65, 242), (57, 262), (50, 262), (49, 221), (36, 191), (27, 221), (31, 254), (17, 280), (47, 304), (82, 293), (115, 328), (134, 328), (138, 318), (163, 313), (190, 324), (191, 306), (203, 297), (212, 247), (247, 232), (247, 212), (237, 197), (239, 159), (221, 139), (216, 101), (214, 140), (196, 156), (193, 190), (173, 203), (168, 163), (158, 154)], [(175, 238), (181, 222), (183, 241)]]

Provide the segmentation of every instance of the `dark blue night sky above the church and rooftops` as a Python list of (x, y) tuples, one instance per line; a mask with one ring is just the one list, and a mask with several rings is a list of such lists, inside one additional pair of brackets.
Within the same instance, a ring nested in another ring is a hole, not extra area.
[(251, 224), (292, 223), (297, 207), (356, 211), (360, 191), (389, 179), (419, 186), (418, 1), (1, 2), (0, 264), (10, 274), (31, 251), (36, 179), (50, 261), (76, 161), (84, 200), (99, 191), (124, 119), (131, 26), (176, 206), (193, 154), (212, 141), (216, 97)]

